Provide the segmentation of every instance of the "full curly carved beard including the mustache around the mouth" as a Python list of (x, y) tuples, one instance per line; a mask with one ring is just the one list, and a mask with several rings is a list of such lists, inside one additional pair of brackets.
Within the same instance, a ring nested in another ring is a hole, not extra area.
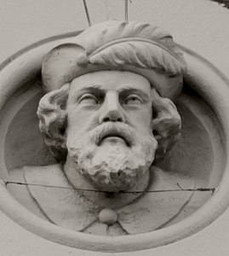
[[(117, 141), (106, 141), (107, 137)], [(72, 172), (80, 172), (97, 189), (119, 192), (132, 188), (148, 172), (157, 140), (127, 124), (107, 122), (83, 136), (69, 131), (66, 147), (74, 163)]]

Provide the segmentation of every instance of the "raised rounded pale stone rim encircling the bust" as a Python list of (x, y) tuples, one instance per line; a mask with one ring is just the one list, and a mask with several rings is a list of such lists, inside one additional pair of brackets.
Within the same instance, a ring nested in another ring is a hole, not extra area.
[[(63, 35), (57, 38), (49, 38), (37, 44), (20, 51), (10, 60), (5, 61), (1, 66), (0, 82), (0, 108), (9, 101), (16, 90), (19, 90), (21, 84), (36, 79), (41, 68), (42, 56), (49, 49), (54, 48), (57, 44), (63, 44), (71, 41), (73, 35)], [(50, 224), (47, 221), (38, 218), (25, 207), (21, 206), (18, 201), (9, 194), (5, 183), (0, 185), (0, 207), (10, 218), (27, 230), (31, 230), (38, 236), (46, 239), (60, 242), (66, 246), (77, 247), (81, 249), (105, 251), (105, 252), (125, 252), (147, 249), (152, 247), (163, 246), (165, 243), (174, 242), (190, 236), (204, 226), (215, 220), (229, 204), (229, 169), (228, 169), (228, 137), (229, 137), (229, 120), (226, 118), (229, 113), (228, 102), (228, 80), (213, 67), (208, 61), (192, 51), (180, 47), (184, 51), (186, 60), (189, 64), (188, 73), (186, 74), (186, 83), (192, 90), (196, 90), (203, 100), (209, 103), (218, 119), (222, 129), (222, 140), (225, 154), (222, 156), (225, 160), (225, 167), (222, 170), (222, 177), (219, 177), (220, 189), (216, 188), (215, 195), (206, 202), (197, 212), (190, 217), (173, 224), (167, 228), (148, 232), (146, 234), (133, 236), (117, 236), (117, 237), (100, 237), (79, 233), (72, 230), (66, 230), (60, 226)], [(17, 73), (14, 71), (17, 70)], [(217, 89), (215, 88), (217, 84)], [(14, 111), (13, 111), (14, 112)], [(6, 131), (8, 127), (5, 127)], [(216, 166), (217, 167), (217, 166)], [(216, 168), (215, 167), (215, 168)], [(215, 170), (215, 172), (218, 170)], [(7, 177), (7, 167), (3, 166), (1, 173), (2, 179)], [(110, 220), (115, 218), (108, 214)], [(114, 216), (113, 216), (114, 217)]]

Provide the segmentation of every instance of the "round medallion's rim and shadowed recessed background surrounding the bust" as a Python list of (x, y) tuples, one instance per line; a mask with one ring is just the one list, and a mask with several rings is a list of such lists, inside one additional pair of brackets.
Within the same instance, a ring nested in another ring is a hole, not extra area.
[[(159, 247), (203, 229), (229, 205), (229, 83), (208, 61), (181, 46), (188, 62), (185, 90), (177, 102), (184, 131), (180, 144), (160, 167), (164, 169), (169, 166), (183, 174), (191, 172), (192, 177), (198, 180), (198, 192), (210, 189), (210, 195), (202, 207), (168, 227), (111, 239), (51, 224), (26, 209), (10, 194), (8, 183), (4, 181), (9, 181), (12, 170), (54, 163), (43, 143), (37, 143), (41, 139), (38, 128), (35, 128), (37, 102), (42, 96), (40, 69), (45, 53), (58, 44), (70, 42), (75, 35), (49, 38), (33, 44), (1, 65), (1, 210), (38, 236), (66, 246), (94, 251), (124, 252)], [(99, 219), (101, 223), (114, 224), (117, 213), (104, 209), (99, 213)]]

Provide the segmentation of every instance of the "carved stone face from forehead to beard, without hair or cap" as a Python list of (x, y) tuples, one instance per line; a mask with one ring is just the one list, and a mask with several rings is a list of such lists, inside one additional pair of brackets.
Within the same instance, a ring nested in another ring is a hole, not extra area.
[(121, 71), (88, 73), (72, 81), (66, 146), (77, 170), (100, 189), (129, 189), (152, 164), (151, 85)]

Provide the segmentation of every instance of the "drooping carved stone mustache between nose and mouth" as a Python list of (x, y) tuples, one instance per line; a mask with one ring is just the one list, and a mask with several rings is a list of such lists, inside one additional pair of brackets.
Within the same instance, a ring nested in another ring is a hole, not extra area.
[(135, 143), (136, 131), (125, 123), (107, 122), (90, 132), (93, 134), (94, 143), (98, 146), (106, 137), (121, 137), (129, 147)]

